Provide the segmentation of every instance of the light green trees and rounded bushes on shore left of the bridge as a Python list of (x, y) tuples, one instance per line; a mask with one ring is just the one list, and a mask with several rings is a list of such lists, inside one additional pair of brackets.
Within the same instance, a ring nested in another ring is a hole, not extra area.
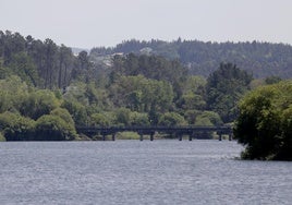
[(74, 121), (60, 93), (27, 86), (19, 76), (0, 80), (0, 128), (8, 141), (74, 140)]

